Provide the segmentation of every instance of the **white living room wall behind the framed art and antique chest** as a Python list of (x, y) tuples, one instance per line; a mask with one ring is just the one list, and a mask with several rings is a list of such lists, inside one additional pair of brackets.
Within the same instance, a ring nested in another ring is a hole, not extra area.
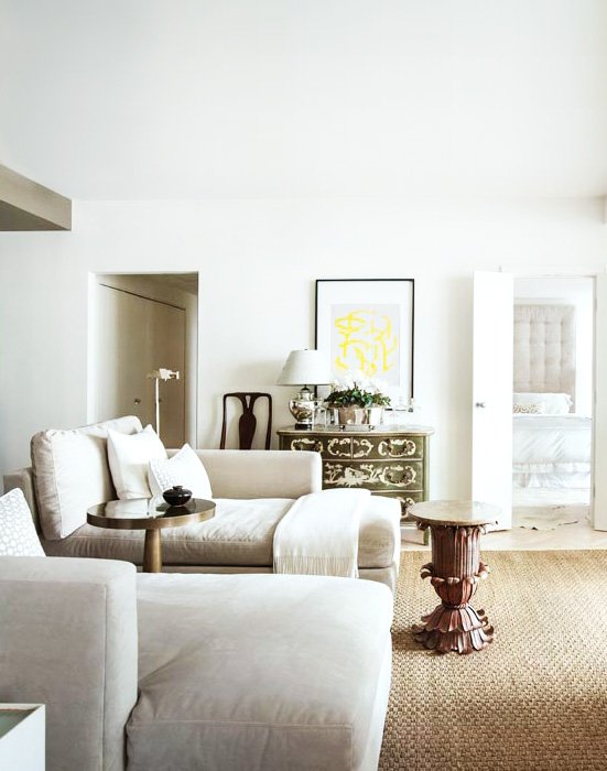
[(599, 199), (318, 198), (77, 203), (66, 234), (0, 234), (0, 467), (31, 435), (87, 416), (89, 272), (199, 271), (198, 444), (220, 397), (274, 394), (290, 350), (314, 340), (314, 280), (415, 279), (415, 422), (430, 424), (431, 495), (470, 484), (471, 275), (518, 261), (606, 263)]

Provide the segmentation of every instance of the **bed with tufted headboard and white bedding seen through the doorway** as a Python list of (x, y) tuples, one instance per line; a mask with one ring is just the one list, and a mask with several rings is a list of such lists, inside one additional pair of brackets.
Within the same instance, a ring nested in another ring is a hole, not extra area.
[(512, 484), (588, 488), (592, 417), (575, 412), (575, 307), (514, 305)]

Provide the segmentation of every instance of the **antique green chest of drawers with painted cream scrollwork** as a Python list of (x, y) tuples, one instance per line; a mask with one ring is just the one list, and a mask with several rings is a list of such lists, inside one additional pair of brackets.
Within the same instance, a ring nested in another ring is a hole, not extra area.
[(397, 498), (407, 509), (429, 498), (429, 426), (386, 425), (312, 430), (281, 428), (280, 449), (312, 449), (323, 457), (323, 487), (365, 488)]

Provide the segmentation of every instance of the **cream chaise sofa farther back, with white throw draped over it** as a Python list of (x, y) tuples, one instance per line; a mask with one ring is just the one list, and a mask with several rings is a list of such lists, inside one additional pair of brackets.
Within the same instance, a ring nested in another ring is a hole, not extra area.
[[(86, 523), (89, 507), (116, 497), (107, 460), (108, 426), (127, 434), (141, 431), (139, 419), (127, 416), (40, 432), (31, 443), (32, 467), (4, 476), (4, 491), (23, 490), (48, 556), (142, 563), (142, 531)], [(164, 571), (272, 572), (274, 530), (294, 499), (321, 489), (321, 456), (286, 450), (196, 452), (210, 479), (216, 517), (163, 531)], [(400, 507), (394, 500), (372, 496), (360, 519), (360, 577), (394, 590), (399, 556)]]

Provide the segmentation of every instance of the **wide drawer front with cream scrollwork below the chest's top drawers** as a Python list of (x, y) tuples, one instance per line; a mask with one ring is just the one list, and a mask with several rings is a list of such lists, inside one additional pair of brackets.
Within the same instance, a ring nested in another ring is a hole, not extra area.
[(350, 487), (367, 490), (421, 490), (423, 489), (423, 464), (394, 460), (390, 463), (338, 463), (323, 464), (323, 487)]

